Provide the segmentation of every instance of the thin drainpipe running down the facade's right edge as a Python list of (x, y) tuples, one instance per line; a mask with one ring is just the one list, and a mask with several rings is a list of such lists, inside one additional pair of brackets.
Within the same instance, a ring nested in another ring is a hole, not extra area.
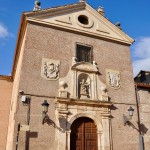
[(143, 140), (143, 136), (141, 133), (141, 127), (140, 127), (140, 112), (139, 112), (140, 97), (138, 94), (137, 86), (135, 86), (135, 94), (136, 94), (137, 114), (138, 114), (139, 144), (140, 144), (140, 150), (144, 150), (144, 140)]

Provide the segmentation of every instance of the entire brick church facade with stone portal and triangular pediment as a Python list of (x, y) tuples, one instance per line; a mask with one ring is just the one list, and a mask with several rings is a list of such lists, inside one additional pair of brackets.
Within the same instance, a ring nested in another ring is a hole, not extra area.
[(86, 2), (23, 13), (6, 149), (140, 149), (133, 42)]

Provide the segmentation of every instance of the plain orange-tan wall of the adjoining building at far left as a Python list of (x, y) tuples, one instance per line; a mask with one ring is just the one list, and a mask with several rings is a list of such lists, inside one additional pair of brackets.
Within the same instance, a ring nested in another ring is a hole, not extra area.
[(0, 76), (0, 149), (6, 149), (8, 120), (13, 82), (11, 77)]

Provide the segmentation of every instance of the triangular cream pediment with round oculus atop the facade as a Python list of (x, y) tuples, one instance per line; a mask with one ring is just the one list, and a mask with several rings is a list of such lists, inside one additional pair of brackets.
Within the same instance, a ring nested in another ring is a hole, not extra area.
[(87, 3), (26, 13), (27, 20), (81, 32), (126, 44), (134, 40)]

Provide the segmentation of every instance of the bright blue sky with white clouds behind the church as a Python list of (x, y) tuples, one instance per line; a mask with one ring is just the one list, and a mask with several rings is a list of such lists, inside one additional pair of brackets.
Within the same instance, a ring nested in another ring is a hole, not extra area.
[[(40, 0), (42, 9), (77, 3), (79, 0)], [(131, 46), (134, 76), (150, 71), (150, 0), (87, 0), (94, 9), (104, 8), (112, 23), (135, 39)], [(0, 75), (11, 75), (22, 12), (32, 11), (34, 0), (0, 0)]]

